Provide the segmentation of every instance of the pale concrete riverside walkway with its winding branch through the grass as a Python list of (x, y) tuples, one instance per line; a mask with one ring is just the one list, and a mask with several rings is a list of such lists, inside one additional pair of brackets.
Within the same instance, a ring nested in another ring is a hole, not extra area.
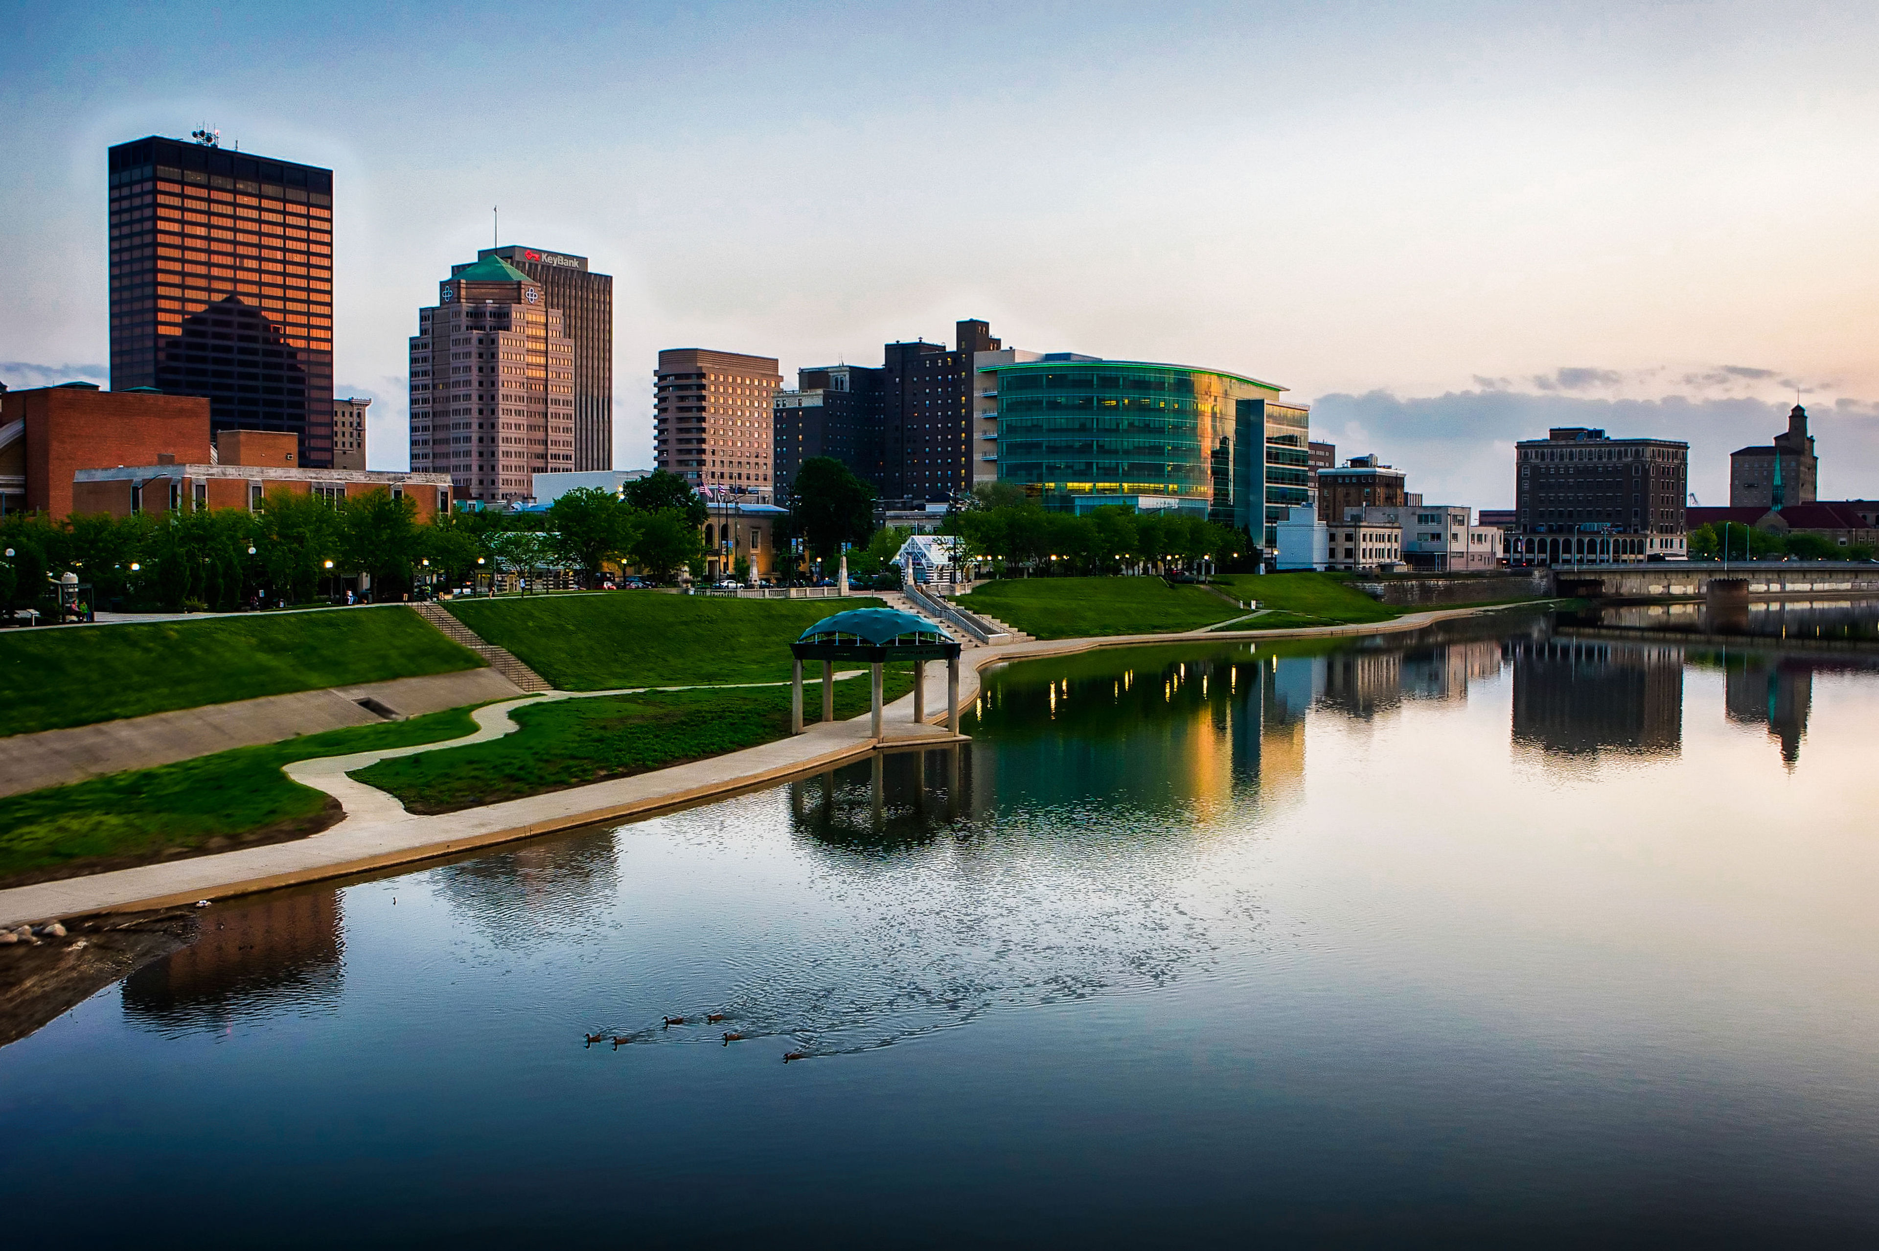
[[(960, 708), (968, 708), (977, 699), (981, 687), (979, 674), (985, 669), (1011, 661), (1071, 656), (1095, 648), (1165, 642), (1268, 642), (1274, 639), (1402, 633), (1492, 610), (1467, 607), (1439, 609), (1366, 626), (1114, 635), (1107, 639), (1037, 639), (1007, 646), (977, 648), (968, 652), (960, 663)], [(594, 691), (592, 695), (607, 693), (613, 691)], [(945, 748), (962, 740), (934, 725), (915, 723), (913, 695), (906, 695), (887, 708), (887, 719), (881, 727), (883, 738), (879, 740), (870, 736), (868, 716), (864, 714), (849, 721), (815, 723), (804, 734), (780, 738), (708, 761), (693, 761), (691, 764), (676, 764), (639, 774), (637, 778), (598, 781), (440, 817), (412, 815), (391, 795), (346, 776), (351, 770), (365, 768), (391, 755), (415, 755), (419, 751), (438, 751), (498, 738), (515, 731), (509, 710), (549, 699), (577, 697), (581, 695), (554, 691), (479, 708), (474, 714), (477, 731), (453, 742), (299, 761), (287, 766), (287, 774), (304, 785), (336, 796), (346, 808), (346, 819), (333, 828), (289, 843), (244, 847), (241, 851), (192, 857), (167, 864), (147, 864), (111, 873), (94, 873), (90, 877), (70, 877), (66, 881), (0, 890), (0, 926), (17, 926), (23, 920), (38, 922), (51, 917), (81, 917), (100, 911), (175, 907), (195, 900), (220, 900), (254, 890), (413, 864), (534, 834), (567, 830), (599, 821), (643, 817), (752, 787), (774, 785), (799, 774), (823, 772), (855, 759), (864, 759), (877, 748)], [(936, 710), (932, 714), (934, 721), (945, 716), (945, 665), (926, 667), (926, 706)]]

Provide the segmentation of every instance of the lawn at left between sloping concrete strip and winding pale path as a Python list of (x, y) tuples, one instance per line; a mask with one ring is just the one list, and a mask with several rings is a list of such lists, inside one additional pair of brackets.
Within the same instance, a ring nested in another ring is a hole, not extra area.
[(472, 731), (470, 710), (451, 708), (9, 795), (0, 798), (0, 885), (312, 834), (327, 825), (327, 795), (289, 781), (282, 764)]

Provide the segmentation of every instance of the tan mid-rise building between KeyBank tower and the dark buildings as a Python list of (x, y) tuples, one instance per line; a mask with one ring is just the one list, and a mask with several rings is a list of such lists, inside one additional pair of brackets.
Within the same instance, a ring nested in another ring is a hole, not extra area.
[(776, 357), (667, 348), (654, 376), (654, 462), (699, 490), (769, 498), (782, 383)]

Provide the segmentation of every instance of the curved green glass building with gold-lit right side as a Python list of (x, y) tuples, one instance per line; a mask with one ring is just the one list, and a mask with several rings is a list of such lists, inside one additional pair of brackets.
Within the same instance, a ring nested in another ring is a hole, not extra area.
[(1278, 541), (1310, 502), (1310, 409), (1285, 387), (1184, 364), (1050, 353), (979, 370), (998, 393), (998, 477), (1045, 507), (1180, 509)]

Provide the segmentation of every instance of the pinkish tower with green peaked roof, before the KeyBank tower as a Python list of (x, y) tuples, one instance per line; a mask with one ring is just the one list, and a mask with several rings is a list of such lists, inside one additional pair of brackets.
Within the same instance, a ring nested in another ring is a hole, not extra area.
[(539, 282), (502, 257), (451, 267), (412, 336), (412, 471), (458, 500), (528, 500), (575, 460), (575, 344)]

